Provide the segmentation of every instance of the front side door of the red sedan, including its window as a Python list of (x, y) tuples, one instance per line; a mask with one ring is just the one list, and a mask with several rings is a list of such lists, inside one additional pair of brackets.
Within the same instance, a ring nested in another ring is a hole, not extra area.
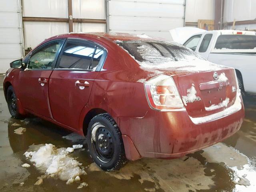
[(24, 109), (52, 118), (48, 98), (48, 84), (60, 46), (64, 40), (54, 40), (34, 50), (27, 68), (20, 71), (19, 99)]

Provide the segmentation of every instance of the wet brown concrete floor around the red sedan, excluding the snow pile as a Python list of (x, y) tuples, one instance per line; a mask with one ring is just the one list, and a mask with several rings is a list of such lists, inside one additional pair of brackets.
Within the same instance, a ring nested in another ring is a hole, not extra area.
[[(84, 138), (40, 118), (11, 118), (0, 87), (0, 191), (255, 192), (255, 101), (256, 96), (244, 96), (246, 117), (242, 128), (223, 143), (188, 154), (187, 158), (144, 158), (108, 173), (93, 163)], [(19, 127), (26, 128), (26, 132), (14, 133)], [(84, 144), (86, 150), (78, 149), (71, 154), (78, 157), (87, 173), (80, 182), (66, 185), (65, 181), (45, 178), (42, 184), (34, 185), (42, 173), (34, 166), (22, 168), (22, 164), (30, 163), (23, 154), (32, 144), (48, 143), (56, 147)], [(88, 186), (77, 189), (81, 182)]]

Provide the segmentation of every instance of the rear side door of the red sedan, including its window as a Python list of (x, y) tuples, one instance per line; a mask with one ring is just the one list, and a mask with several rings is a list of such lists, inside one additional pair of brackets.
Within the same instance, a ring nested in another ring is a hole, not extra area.
[(54, 120), (78, 129), (95, 77), (106, 58), (106, 50), (81, 39), (67, 39), (49, 81), (50, 107)]

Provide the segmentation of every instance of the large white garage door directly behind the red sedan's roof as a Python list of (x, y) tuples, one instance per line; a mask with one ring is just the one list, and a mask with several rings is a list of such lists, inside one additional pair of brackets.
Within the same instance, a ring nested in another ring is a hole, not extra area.
[(109, 0), (109, 32), (147, 34), (170, 39), (184, 26), (185, 0)]

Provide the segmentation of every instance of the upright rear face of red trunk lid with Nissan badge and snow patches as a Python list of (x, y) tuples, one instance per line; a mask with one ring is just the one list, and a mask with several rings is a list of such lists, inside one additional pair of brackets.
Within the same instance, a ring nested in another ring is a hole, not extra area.
[(194, 118), (220, 112), (236, 100), (237, 84), (232, 68), (177, 76), (174, 81), (189, 116)]

